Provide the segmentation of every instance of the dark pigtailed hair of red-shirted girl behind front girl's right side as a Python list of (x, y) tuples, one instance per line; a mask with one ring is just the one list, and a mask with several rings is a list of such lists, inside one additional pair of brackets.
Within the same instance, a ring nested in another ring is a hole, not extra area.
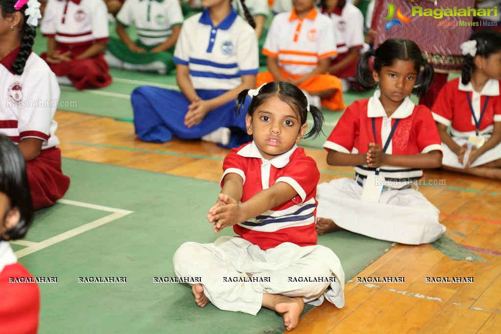
[(384, 41), (376, 50), (362, 54), (358, 61), (357, 82), (360, 87), (366, 90), (377, 86), (377, 82), (372, 76), (372, 69), (369, 66), (371, 56), (375, 56), (373, 70), (377, 73), (380, 73), (384, 66), (391, 66), (397, 60), (410, 60), (413, 62), (418, 76), (412, 93), (417, 96), (422, 96), (428, 91), (435, 77), (433, 67), (423, 57), (416, 43), (411, 40), (390, 38)]

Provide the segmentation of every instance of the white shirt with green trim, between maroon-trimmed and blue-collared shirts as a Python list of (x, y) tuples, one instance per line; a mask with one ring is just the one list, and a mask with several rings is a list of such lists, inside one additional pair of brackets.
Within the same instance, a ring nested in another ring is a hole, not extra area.
[(147, 46), (167, 41), (172, 27), (184, 20), (178, 0), (127, 0), (116, 19), (124, 27), (134, 24), (139, 41)]

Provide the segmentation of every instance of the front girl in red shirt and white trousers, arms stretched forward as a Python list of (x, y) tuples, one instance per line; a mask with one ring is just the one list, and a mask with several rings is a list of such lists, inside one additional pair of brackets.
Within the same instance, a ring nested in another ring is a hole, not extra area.
[[(317, 245), (315, 194), (320, 178), (315, 160), (297, 147), (313, 116), (321, 131), (322, 114), (306, 96), (287, 82), (272, 82), (257, 90), (246, 125), (254, 141), (232, 149), (223, 162), (221, 192), (207, 218), (217, 233), (233, 226), (239, 237), (222, 236), (209, 244), (186, 242), (174, 254), (178, 277), (201, 277), (192, 285), (195, 302), (209, 301), (224, 310), (256, 315), (262, 307), (275, 310), (291, 330), (298, 325), (304, 303), (320, 305), (324, 298), (344, 305), (344, 272), (331, 249)], [(323, 277), (324, 281), (291, 282), (289, 277)], [(246, 282), (224, 282), (244, 277)]]

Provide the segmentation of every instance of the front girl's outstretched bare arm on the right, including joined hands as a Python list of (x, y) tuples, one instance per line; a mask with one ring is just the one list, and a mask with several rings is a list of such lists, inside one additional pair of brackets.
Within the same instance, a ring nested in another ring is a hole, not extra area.
[[(226, 184), (226, 183), (225, 183)], [(286, 182), (275, 183), (268, 189), (258, 192), (244, 203), (237, 203), (227, 195), (219, 194), (218, 201), (224, 205), (214, 205), (209, 211), (209, 222), (217, 233), (224, 227), (232, 226), (254, 218), (298, 195), (298, 192)]]

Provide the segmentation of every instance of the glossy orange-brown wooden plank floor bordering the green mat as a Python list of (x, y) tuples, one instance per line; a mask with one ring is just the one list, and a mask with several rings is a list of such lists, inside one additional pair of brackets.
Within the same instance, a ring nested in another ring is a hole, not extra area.
[[(219, 181), (228, 152), (200, 141), (143, 143), (132, 123), (110, 118), (58, 112), (55, 119), (67, 158)], [(321, 182), (353, 173), (351, 167), (327, 165), (323, 150), (307, 154), (317, 161)], [(452, 260), (446, 249), (431, 245), (396, 245), (357, 276), (397, 276), (404, 282), (357, 283), (356, 276), (345, 285), (342, 309), (325, 302), (291, 333), (501, 333), (501, 182), (440, 170), (425, 171), (425, 178), (446, 182), (419, 189), (440, 209), (445, 235), (484, 261)], [(473, 282), (426, 282), (457, 276)]]

